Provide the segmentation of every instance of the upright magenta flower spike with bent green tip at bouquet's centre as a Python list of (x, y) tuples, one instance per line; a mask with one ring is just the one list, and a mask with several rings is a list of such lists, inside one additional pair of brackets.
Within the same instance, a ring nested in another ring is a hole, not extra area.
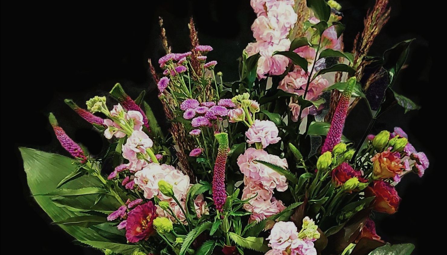
[(228, 134), (218, 133), (214, 135), (219, 142), (219, 150), (217, 152), (216, 162), (214, 164), (213, 174), (213, 201), (216, 210), (222, 212), (223, 205), (227, 200), (227, 192), (225, 191), (225, 165), (228, 157)]

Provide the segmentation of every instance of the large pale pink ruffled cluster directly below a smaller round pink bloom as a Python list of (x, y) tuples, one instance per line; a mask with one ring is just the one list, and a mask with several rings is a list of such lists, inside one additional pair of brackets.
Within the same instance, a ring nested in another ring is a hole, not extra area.
[(287, 190), (288, 185), (285, 176), (254, 160), (266, 161), (284, 168), (288, 166), (286, 159), (255, 148), (245, 150), (245, 153), (237, 159), (237, 165), (244, 174), (245, 188), (242, 199), (252, 198), (248, 204), (244, 205), (244, 209), (253, 213), (250, 216), (251, 221), (261, 221), (286, 208), (283, 202), (273, 197), (273, 193), (275, 188), (278, 191)]

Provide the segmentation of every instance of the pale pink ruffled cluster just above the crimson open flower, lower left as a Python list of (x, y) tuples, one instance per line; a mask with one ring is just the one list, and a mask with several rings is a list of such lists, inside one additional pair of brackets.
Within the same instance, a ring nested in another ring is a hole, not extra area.
[[(186, 217), (182, 213), (180, 206), (173, 200), (172, 197), (163, 195), (158, 188), (158, 182), (164, 180), (173, 186), (174, 196), (180, 201), (180, 204), (185, 207), (186, 195), (193, 184), (190, 184), (189, 176), (183, 174), (181, 171), (175, 169), (173, 166), (166, 164), (147, 164), (141, 171), (135, 173), (135, 184), (144, 192), (144, 197), (152, 199), (154, 196), (161, 201), (169, 203), (175, 215), (186, 223)], [(160, 206), (156, 205), (157, 213), (160, 217), (169, 217), (173, 222), (175, 218), (164, 212)], [(198, 195), (194, 200), (194, 207), (196, 209), (197, 217), (202, 217), (203, 214), (208, 214), (207, 203), (204, 201), (202, 195)]]

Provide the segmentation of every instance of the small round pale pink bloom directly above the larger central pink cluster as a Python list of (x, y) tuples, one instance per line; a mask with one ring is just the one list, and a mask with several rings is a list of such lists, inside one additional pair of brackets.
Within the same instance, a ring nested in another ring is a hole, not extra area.
[(249, 130), (245, 132), (245, 136), (247, 137), (247, 142), (249, 144), (260, 142), (262, 148), (266, 148), (268, 145), (277, 143), (281, 140), (281, 138), (278, 137), (278, 133), (278, 128), (272, 121), (255, 120)]

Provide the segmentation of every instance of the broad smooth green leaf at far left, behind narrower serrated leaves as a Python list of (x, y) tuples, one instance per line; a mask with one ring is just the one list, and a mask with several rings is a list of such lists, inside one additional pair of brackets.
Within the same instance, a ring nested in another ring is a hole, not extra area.
[[(45, 194), (53, 191), (59, 181), (69, 173), (75, 171), (77, 167), (75, 164), (72, 164), (74, 160), (61, 155), (23, 147), (19, 148), (19, 150), (23, 158), (23, 166), (26, 172), (28, 186), (30, 187), (31, 194), (33, 195)], [(94, 176), (82, 176), (65, 185), (69, 189), (78, 189), (100, 186), (101, 182)], [(81, 205), (93, 205), (95, 198), (95, 195), (78, 196), (76, 201)], [(80, 212), (72, 212), (66, 208), (56, 206), (51, 200), (50, 196), (34, 196), (34, 199), (54, 222), (62, 221), (69, 217), (84, 215)], [(99, 205), (104, 205), (115, 209), (120, 206), (120, 204), (112, 197), (103, 198), (99, 202), (98, 206)], [(116, 231), (116, 227), (113, 225), (114, 224), (105, 223), (91, 228), (65, 225), (59, 226), (78, 240), (110, 242), (111, 240), (103, 234), (99, 234), (97, 229), (113, 233), (113, 231)], [(92, 228), (96, 229), (93, 230)]]

